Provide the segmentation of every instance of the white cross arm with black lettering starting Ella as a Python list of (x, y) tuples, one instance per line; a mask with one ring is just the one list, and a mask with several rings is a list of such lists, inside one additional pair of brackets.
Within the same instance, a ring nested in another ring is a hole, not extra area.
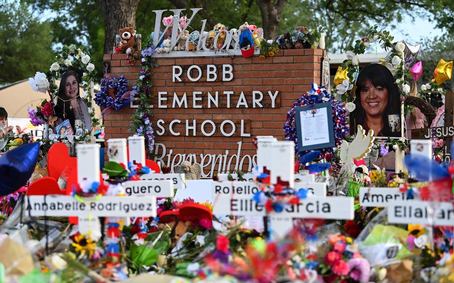
[[(430, 207), (437, 207), (431, 215)], [(431, 219), (432, 218), (432, 219)], [(432, 220), (432, 221), (431, 221)], [(388, 222), (396, 224), (423, 224), (454, 226), (454, 208), (450, 202), (395, 201), (388, 206)]]

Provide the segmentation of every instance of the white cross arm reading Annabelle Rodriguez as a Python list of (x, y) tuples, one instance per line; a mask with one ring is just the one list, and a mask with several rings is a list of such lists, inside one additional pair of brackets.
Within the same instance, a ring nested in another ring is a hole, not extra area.
[(102, 196), (80, 202), (68, 195), (32, 195), (25, 198), (30, 216), (155, 217), (155, 196)]

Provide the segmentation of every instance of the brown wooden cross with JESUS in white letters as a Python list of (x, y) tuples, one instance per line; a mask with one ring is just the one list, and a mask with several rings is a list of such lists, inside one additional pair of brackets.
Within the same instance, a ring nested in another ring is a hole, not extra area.
[[(412, 130), (412, 139), (443, 139), (445, 146), (445, 161), (450, 161), (450, 145), (454, 137), (453, 120), (454, 91), (450, 90), (446, 93), (445, 96), (445, 126)], [(446, 158), (449, 159), (446, 160)]]

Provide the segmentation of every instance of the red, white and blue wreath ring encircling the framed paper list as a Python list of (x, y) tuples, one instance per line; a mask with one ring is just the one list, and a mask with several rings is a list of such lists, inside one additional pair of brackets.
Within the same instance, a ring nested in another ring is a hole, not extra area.
[[(342, 138), (345, 136), (348, 127), (346, 111), (341, 102), (337, 101), (332, 97), (323, 86), (318, 87), (316, 84), (311, 84), (312, 89), (303, 94), (301, 98), (298, 98), (292, 103), (292, 109), (287, 112), (284, 124), (285, 140), (295, 142), (295, 154), (302, 157), (307, 151), (298, 151), (298, 139), (296, 134), (296, 118), (295, 118), (295, 107), (301, 107), (306, 105), (314, 105), (317, 103), (331, 102), (333, 109), (333, 129), (334, 129), (334, 142), (335, 146), (339, 146)], [(321, 157), (326, 153), (333, 153), (333, 147), (320, 148)]]

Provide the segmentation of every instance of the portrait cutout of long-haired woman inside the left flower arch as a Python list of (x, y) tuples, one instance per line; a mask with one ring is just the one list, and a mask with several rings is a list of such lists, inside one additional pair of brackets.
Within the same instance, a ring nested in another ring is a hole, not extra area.
[(57, 116), (57, 124), (69, 120), (72, 129), (75, 129), (75, 121), (80, 120), (82, 129), (91, 131), (91, 118), (88, 113), (88, 107), (80, 97), (79, 77), (74, 71), (68, 71), (61, 77), (55, 114)]

